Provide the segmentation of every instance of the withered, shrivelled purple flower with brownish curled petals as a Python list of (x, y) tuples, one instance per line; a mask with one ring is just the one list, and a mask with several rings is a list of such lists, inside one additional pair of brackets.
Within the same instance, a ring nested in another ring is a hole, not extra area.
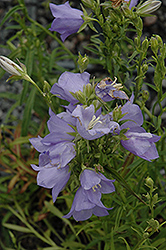
[(128, 96), (124, 91), (122, 91), (122, 85), (112, 81), (109, 77), (100, 81), (96, 88), (96, 95), (102, 99), (104, 102), (109, 102), (114, 99), (126, 99), (128, 100)]

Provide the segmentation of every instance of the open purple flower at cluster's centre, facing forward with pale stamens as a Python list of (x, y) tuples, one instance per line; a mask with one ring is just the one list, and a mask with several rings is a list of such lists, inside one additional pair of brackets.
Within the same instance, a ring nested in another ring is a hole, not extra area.
[(96, 115), (92, 104), (86, 108), (77, 105), (72, 115), (77, 118), (77, 132), (87, 140), (97, 139), (119, 128), (119, 124), (111, 121), (109, 115)]

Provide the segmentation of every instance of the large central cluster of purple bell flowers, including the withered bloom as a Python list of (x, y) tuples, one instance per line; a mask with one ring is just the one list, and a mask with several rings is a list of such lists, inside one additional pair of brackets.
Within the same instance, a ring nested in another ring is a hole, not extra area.
[[(154, 142), (160, 137), (147, 133), (141, 127), (143, 116), (139, 106), (133, 104), (133, 95), (129, 99), (121, 90), (122, 86), (110, 78), (105, 78), (96, 85), (91, 85), (89, 78), (87, 72), (64, 72), (60, 76), (50, 92), (68, 101), (69, 105), (64, 106), (65, 111), (60, 114), (55, 114), (50, 109), (47, 123), (50, 133), (44, 138), (30, 139), (40, 153), (39, 166), (32, 164), (32, 168), (38, 171), (37, 184), (52, 188), (54, 202), (74, 171), (70, 162), (77, 155), (77, 143), (80, 140), (92, 141), (104, 135), (113, 137), (125, 131), (120, 140), (125, 149), (148, 161), (158, 157)], [(114, 99), (125, 99), (127, 102), (112, 112), (102, 114), (98, 100)], [(118, 119), (115, 115), (117, 112), (120, 114)], [(101, 194), (115, 191), (114, 180), (107, 179), (93, 166), (85, 167), (85, 163), (82, 165), (79, 174), (80, 187), (75, 194), (71, 211), (65, 218), (73, 215), (75, 220), (82, 221), (92, 214), (108, 215), (111, 208), (103, 205)]]

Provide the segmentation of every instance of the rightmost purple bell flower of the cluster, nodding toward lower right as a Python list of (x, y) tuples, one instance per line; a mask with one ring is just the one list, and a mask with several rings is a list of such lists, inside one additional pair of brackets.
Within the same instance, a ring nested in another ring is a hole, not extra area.
[(124, 134), (127, 140), (121, 140), (125, 149), (147, 161), (159, 157), (155, 142), (160, 140), (160, 136), (147, 133), (144, 128), (130, 121), (121, 125), (121, 129), (126, 128), (129, 128)]

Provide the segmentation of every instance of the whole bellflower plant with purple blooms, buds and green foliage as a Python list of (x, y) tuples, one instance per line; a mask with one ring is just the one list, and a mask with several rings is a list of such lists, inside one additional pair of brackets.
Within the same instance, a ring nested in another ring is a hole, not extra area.
[[(165, 249), (166, 49), (159, 35), (142, 37), (141, 19), (161, 2), (136, 2), (82, 0), (83, 11), (50, 4), (55, 19), (44, 28), (18, 0), (2, 20), (17, 23), (5, 47), (18, 63), (1, 56), (0, 65), (11, 84), (23, 84), (19, 95), (0, 93), (15, 101), (1, 125), (2, 249)], [(87, 53), (74, 55), (63, 42), (86, 26)], [(51, 53), (47, 36), (57, 42)], [(65, 60), (72, 72), (59, 66)], [(103, 67), (105, 78), (92, 79), (89, 64)], [(151, 66), (154, 83), (145, 82)], [(156, 92), (152, 111), (144, 85)], [(20, 105), (23, 119), (9, 126)]]

